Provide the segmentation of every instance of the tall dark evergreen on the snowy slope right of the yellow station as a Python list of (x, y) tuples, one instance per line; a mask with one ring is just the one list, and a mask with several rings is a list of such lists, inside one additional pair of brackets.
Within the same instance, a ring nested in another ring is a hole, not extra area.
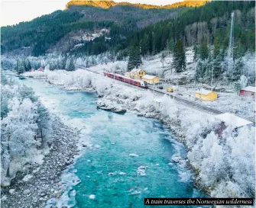
[(183, 40), (181, 39), (178, 40), (173, 49), (172, 67), (175, 69), (175, 72), (183, 72), (186, 70), (186, 56), (183, 47)]

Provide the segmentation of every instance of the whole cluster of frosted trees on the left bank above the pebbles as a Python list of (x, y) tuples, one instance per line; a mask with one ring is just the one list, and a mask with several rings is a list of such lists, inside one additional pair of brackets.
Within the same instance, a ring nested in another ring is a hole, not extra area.
[[(8, 184), (25, 162), (33, 160), (41, 143), (37, 132), (50, 129), (50, 115), (31, 88), (9, 78), (1, 82), (2, 183)], [(18, 168), (19, 167), (19, 168)]]

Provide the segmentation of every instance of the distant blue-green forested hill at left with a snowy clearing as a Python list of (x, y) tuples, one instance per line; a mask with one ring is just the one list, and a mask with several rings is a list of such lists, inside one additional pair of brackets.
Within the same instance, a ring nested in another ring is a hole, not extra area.
[[(55, 11), (33, 21), (2, 27), (2, 53), (41, 56), (45, 53), (66, 53), (83, 44), (89, 44), (86, 53), (98, 54), (109, 49), (118, 51), (124, 48), (129, 35), (159, 21), (177, 18), (178, 13), (188, 9), (144, 9), (131, 4), (113, 5), (113, 2), (103, 1), (93, 4), (70, 6), (65, 11)], [(196, 4), (193, 2), (193, 5)], [(202, 5), (202, 2), (198, 4)], [(112, 6), (103, 9), (99, 5)], [(100, 34), (102, 29), (109, 30), (109, 34)], [(89, 40), (86, 37), (91, 37), (94, 43), (86, 41)]]

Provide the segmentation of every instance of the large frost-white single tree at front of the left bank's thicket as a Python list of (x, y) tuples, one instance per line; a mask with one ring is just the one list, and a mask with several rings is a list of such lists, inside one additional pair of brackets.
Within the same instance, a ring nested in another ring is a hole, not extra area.
[(39, 144), (34, 140), (34, 133), (37, 130), (37, 113), (34, 104), (28, 98), (22, 102), (14, 98), (10, 105), (11, 111), (1, 123), (3, 148), (7, 149), (10, 158), (6, 177), (10, 176), (8, 169), (11, 160), (29, 157), (33, 154), (31, 149)]

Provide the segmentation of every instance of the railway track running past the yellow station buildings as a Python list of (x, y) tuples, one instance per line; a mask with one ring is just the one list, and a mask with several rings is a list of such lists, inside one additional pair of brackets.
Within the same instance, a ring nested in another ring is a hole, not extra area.
[[(98, 75), (100, 74), (99, 72), (93, 72), (93, 71), (91, 71), (91, 70), (89, 70), (89, 69), (86, 69), (86, 68), (84, 68), (83, 66), (79, 66), (79, 68), (85, 69), (86, 71), (89, 71), (89, 72), (92, 72), (92, 73), (95, 73), (95, 74), (98, 74)], [(116, 80), (116, 81), (117, 81), (118, 83), (120, 82), (120, 81), (118, 81), (118, 80)], [(129, 84), (125, 83), (125, 82), (120, 82), (120, 84), (122, 84), (122, 85), (127, 85), (127, 86), (129, 86), (129, 87), (138, 88), (138, 87), (136, 87), (136, 86), (129, 85)], [(151, 86), (148, 87), (148, 89), (151, 90), (151, 91), (156, 91), (157, 93), (160, 93), (160, 94), (167, 94), (168, 96), (170, 96), (171, 98), (173, 98), (173, 94), (171, 94), (170, 92), (167, 92), (167, 91), (164, 91), (164, 90), (160, 90), (160, 89), (158, 89), (158, 88), (153, 88), (153, 87), (151, 87)], [(147, 89), (141, 88), (141, 90), (147, 90)], [(177, 101), (177, 102), (180, 103), (180, 104), (183, 104), (183, 105), (186, 106), (186, 107), (191, 107), (191, 108), (193, 108), (193, 109), (200, 110), (200, 111), (206, 112), (206, 113), (208, 113), (208, 114), (214, 114), (214, 115), (216, 115), (216, 114), (224, 114), (224, 113), (225, 113), (225, 112), (223, 112), (223, 111), (221, 111), (221, 110), (217, 110), (217, 109), (212, 108), (212, 107), (207, 107), (207, 106), (205, 106), (205, 105), (203, 105), (203, 104), (198, 104), (198, 103), (196, 103), (195, 101), (188, 101), (188, 100), (186, 100), (186, 99), (184, 99), (184, 98), (180, 98), (179, 96), (175, 96), (174, 100)], [(241, 116), (239, 115), (238, 117), (241, 117)], [(245, 119), (245, 120), (251, 121), (251, 123), (253, 123), (253, 125), (255, 126), (255, 121), (254, 121), (254, 120), (249, 119), (249, 118), (247, 118), (247, 117), (241, 117), (241, 118), (243, 118), (243, 119)]]

